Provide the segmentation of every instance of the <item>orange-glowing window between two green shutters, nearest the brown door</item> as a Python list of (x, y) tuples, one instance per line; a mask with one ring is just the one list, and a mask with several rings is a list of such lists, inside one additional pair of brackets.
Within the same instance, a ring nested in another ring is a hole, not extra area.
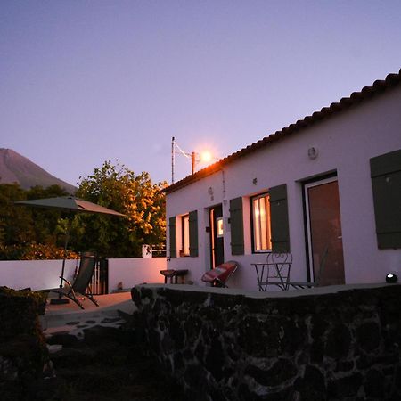
[(251, 199), (253, 224), (253, 250), (264, 252), (272, 249), (269, 194), (263, 193)]

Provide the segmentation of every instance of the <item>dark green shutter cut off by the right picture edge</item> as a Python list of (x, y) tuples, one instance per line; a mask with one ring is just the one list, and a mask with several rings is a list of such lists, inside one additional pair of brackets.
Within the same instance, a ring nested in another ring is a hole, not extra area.
[(401, 248), (401, 150), (370, 160), (377, 244)]

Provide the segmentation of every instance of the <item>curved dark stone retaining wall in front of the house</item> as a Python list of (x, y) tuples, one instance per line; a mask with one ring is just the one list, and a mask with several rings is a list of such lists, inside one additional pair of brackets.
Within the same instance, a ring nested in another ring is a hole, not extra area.
[(146, 340), (192, 401), (401, 399), (401, 286), (285, 295), (132, 290)]

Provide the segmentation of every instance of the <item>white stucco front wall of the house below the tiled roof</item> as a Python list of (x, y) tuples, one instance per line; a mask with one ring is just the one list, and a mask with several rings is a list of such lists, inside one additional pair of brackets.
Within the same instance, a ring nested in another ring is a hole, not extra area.
[[(369, 160), (401, 149), (401, 87), (363, 104), (302, 129), (279, 142), (235, 160), (212, 176), (168, 194), (167, 218), (198, 210), (199, 257), (173, 258), (169, 268), (189, 268), (189, 279), (201, 284), (209, 270), (208, 209), (223, 204), (225, 260), (235, 259), (241, 269), (232, 287), (257, 289), (256, 274), (250, 263), (264, 261), (266, 255), (250, 249), (250, 213), (244, 201), (245, 255), (231, 256), (229, 200), (249, 197), (275, 185), (287, 184), (291, 252), (294, 257), (291, 280), (307, 279), (307, 252), (302, 182), (314, 176), (337, 172), (340, 192), (346, 283), (383, 282), (389, 271), (401, 271), (401, 250), (377, 247), (372, 181)], [(307, 150), (319, 154), (310, 160)], [(253, 184), (257, 178), (258, 183)], [(224, 181), (224, 185), (223, 185)], [(209, 188), (213, 189), (213, 199)], [(169, 240), (169, 235), (167, 236)], [(169, 249), (169, 243), (168, 243)], [(401, 274), (398, 274), (401, 278)]]

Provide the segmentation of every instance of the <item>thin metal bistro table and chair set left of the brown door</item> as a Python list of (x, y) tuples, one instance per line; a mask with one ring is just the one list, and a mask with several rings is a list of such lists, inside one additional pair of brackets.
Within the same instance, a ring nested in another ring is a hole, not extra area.
[(266, 291), (268, 285), (288, 291), (291, 285), (291, 265), (290, 252), (269, 252), (265, 263), (251, 263), (257, 273), (259, 291)]

